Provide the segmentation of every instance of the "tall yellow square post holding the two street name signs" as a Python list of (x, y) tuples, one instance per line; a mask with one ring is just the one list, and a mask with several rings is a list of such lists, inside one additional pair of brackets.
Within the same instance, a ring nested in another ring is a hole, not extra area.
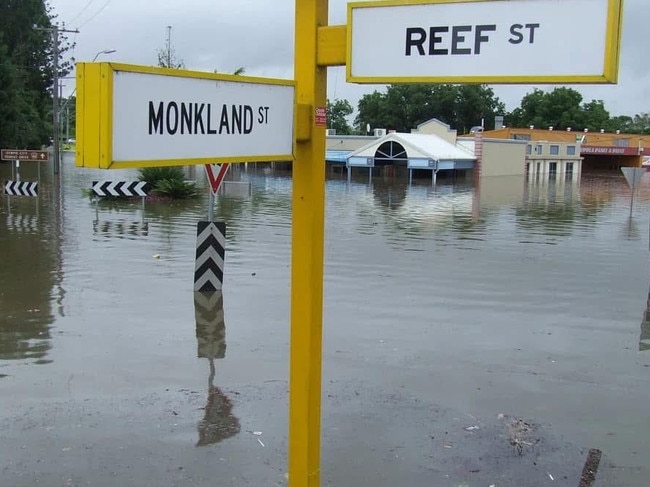
[(320, 485), (325, 127), (327, 68), (317, 65), (318, 27), (328, 0), (296, 0), (296, 116), (291, 240), (291, 365), (289, 373), (289, 485)]

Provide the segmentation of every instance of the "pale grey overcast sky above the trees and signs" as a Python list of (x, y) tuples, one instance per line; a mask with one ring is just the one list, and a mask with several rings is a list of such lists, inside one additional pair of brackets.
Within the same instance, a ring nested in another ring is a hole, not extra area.
[[(76, 42), (77, 61), (115, 49), (98, 60), (155, 65), (157, 51), (166, 45), (167, 26), (172, 26), (172, 46), (188, 69), (232, 72), (244, 67), (251, 76), (293, 78), (294, 0), (50, 0), (50, 4), (59, 22), (79, 30), (69, 34)], [(329, 5), (330, 24), (344, 24), (347, 2), (330, 0)], [(650, 112), (649, 25), (650, 0), (625, 0), (619, 82), (575, 86), (585, 101), (603, 100), (612, 115)], [(571, 51), (571, 46), (566, 49)], [(64, 94), (69, 94), (74, 80), (65, 83)], [(494, 88), (512, 110), (534, 86)], [(356, 109), (359, 98), (375, 89), (383, 87), (349, 84), (344, 68), (329, 69), (330, 99), (345, 98)]]

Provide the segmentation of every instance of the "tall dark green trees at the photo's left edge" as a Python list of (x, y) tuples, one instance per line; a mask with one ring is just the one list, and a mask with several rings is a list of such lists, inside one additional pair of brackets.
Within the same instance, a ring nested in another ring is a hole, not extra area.
[[(40, 148), (52, 134), (56, 16), (44, 0), (0, 2), (0, 147)], [(70, 72), (70, 48), (59, 37), (59, 75)]]

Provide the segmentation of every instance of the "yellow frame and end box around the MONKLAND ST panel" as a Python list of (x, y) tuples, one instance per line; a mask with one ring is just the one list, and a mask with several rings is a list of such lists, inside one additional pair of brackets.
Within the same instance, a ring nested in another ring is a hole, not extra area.
[[(293, 161), (293, 154), (164, 160), (113, 161), (113, 77), (117, 72), (154, 74), (265, 85), (295, 86), (293, 80), (256, 78), (122, 63), (77, 63), (76, 165), (94, 169), (187, 166), (197, 164)], [(294, 115), (295, 116), (295, 115)]]

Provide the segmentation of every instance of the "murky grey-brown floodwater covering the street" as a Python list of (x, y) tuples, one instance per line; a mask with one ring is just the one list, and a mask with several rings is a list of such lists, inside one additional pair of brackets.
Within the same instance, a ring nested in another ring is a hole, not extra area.
[[(202, 300), (202, 169), (196, 200), (96, 203), (137, 172), (70, 156), (0, 204), (0, 484), (286, 485), (290, 173), (232, 172)], [(650, 484), (650, 176), (630, 203), (617, 173), (330, 175), (322, 485), (576, 487), (589, 449), (594, 485)]]

